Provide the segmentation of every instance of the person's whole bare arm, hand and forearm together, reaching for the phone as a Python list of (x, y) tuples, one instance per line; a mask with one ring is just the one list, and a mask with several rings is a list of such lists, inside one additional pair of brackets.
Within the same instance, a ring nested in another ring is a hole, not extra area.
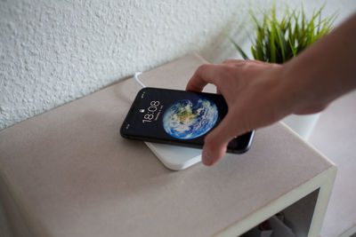
[(206, 136), (203, 163), (212, 165), (221, 159), (236, 136), (292, 113), (320, 112), (355, 90), (355, 28), (356, 13), (282, 66), (228, 59), (198, 67), (186, 90), (202, 91), (213, 83), (229, 107), (223, 121)]

